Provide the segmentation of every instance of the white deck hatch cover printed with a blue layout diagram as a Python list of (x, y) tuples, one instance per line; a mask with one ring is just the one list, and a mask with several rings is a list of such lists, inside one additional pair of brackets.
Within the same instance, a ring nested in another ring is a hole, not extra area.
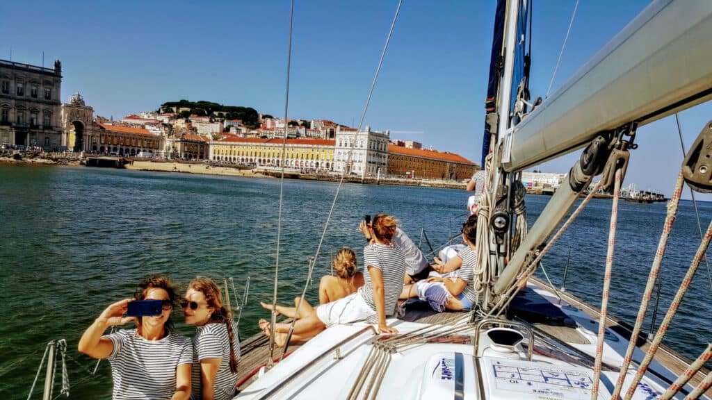
[(481, 367), (488, 399), (591, 399), (590, 369), (489, 357)]

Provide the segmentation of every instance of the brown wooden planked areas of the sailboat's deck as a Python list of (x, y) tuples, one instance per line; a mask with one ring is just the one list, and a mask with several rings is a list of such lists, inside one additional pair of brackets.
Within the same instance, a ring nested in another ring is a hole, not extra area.
[[(530, 280), (530, 284), (538, 286), (539, 288), (542, 288), (544, 290), (550, 290), (549, 286), (546, 283), (535, 278), (532, 278)], [(577, 307), (593, 319), (597, 320), (600, 316), (600, 312), (597, 308), (592, 307), (592, 305), (587, 304), (576, 296), (570, 295), (569, 293), (560, 293), (560, 296), (563, 302), (572, 305), (573, 307)], [(409, 312), (407, 312), (407, 315), (404, 317), (404, 320), (429, 324), (439, 324), (449, 322), (457, 315), (463, 315), (463, 313), (434, 313), (426, 309), (419, 310), (416, 308), (415, 310), (409, 310)], [(618, 320), (615, 317), (607, 317), (606, 326), (609, 327), (611, 330), (614, 330), (614, 332), (621, 335), (622, 337), (629, 339), (629, 337), (631, 336), (632, 327)], [(535, 323), (533, 324), (533, 329), (535, 330), (535, 332), (538, 333), (538, 335), (549, 335), (555, 337), (557, 340), (560, 340), (562, 342), (572, 344), (590, 344), (586, 337), (581, 335), (579, 331), (575, 330), (572, 327), (560, 326), (557, 324)], [(642, 351), (646, 351), (649, 348), (649, 342), (646, 340), (646, 337), (639, 338), (638, 344), (639, 348), (642, 349)], [(286, 357), (289, 357), (289, 354), (295, 349), (298, 349), (298, 347), (300, 347), (299, 344), (290, 344)], [(239, 368), (238, 389), (241, 391), (247, 386), (249, 386), (249, 384), (251, 384), (254, 379), (256, 379), (256, 372), (258, 372), (258, 370), (266, 364), (269, 354), (268, 337), (266, 337), (262, 333), (258, 333), (257, 335), (254, 335), (253, 337), (249, 337), (248, 339), (242, 341), (240, 349), (241, 359)], [(282, 349), (278, 348), (273, 352), (273, 357), (275, 360), (278, 360), (281, 355)], [(687, 369), (688, 365), (691, 364), (691, 360), (687, 359), (681, 354), (674, 352), (673, 350), (669, 349), (668, 347), (665, 347), (664, 345), (661, 345), (659, 347), (658, 352), (656, 352), (655, 355), (655, 360), (660, 364), (666, 365), (666, 367), (668, 367), (676, 375), (683, 374)], [(693, 387), (697, 386), (697, 384), (699, 384), (702, 379), (704, 379), (705, 375), (708, 373), (709, 371), (707, 369), (702, 369), (700, 372), (698, 372), (697, 374), (695, 374), (695, 376), (692, 377), (689, 384)], [(712, 399), (712, 389), (706, 391), (705, 394), (708, 398)]]

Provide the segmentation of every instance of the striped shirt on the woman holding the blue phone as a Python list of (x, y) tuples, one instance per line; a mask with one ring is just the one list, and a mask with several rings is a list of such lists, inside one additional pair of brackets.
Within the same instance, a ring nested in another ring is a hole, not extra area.
[(132, 329), (104, 337), (114, 344), (108, 357), (112, 399), (170, 399), (176, 391), (176, 369), (193, 362), (190, 340), (174, 333), (147, 340)]

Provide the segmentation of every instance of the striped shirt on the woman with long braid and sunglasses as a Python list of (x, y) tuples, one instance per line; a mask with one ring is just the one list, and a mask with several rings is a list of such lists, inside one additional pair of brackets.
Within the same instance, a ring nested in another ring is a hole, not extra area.
[[(235, 357), (240, 359), (240, 341), (237, 337), (237, 325), (233, 322)], [(230, 370), (230, 337), (223, 322), (214, 322), (198, 327), (193, 338), (193, 393), (191, 399), (202, 399), (202, 381), (200, 379), (200, 361), (208, 358), (219, 358), (220, 367), (215, 376), (215, 400), (232, 399), (235, 396), (237, 374)]]

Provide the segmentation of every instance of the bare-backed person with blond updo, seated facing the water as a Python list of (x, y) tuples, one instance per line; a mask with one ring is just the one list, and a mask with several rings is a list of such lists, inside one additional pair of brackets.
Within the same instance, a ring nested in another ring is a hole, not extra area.
[[(358, 288), (363, 286), (363, 274), (358, 271), (358, 260), (356, 253), (348, 247), (342, 248), (333, 260), (331, 265), (334, 268), (334, 275), (324, 275), (319, 282), (319, 304), (336, 301), (345, 298), (347, 295), (355, 293)], [(276, 311), (286, 317), (294, 318), (296, 307), (300, 298), (294, 298), (294, 307), (286, 307), (277, 305)], [(262, 307), (267, 310), (272, 310), (271, 304), (260, 302)], [(306, 300), (299, 307), (299, 315), (297, 318), (303, 318), (316, 312)]]

